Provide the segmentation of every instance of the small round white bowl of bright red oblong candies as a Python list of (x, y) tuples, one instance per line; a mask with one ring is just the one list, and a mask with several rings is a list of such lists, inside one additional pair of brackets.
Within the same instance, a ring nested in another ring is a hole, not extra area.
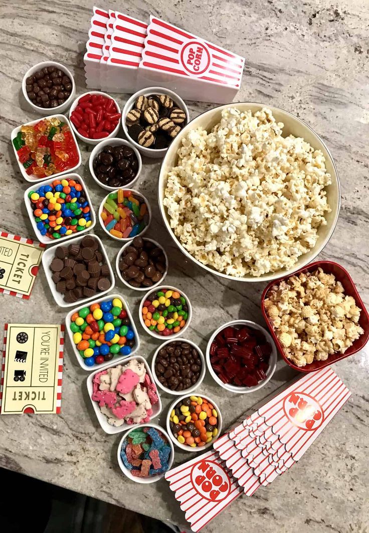
[(69, 119), (77, 137), (87, 144), (116, 137), (121, 112), (118, 102), (101, 91), (90, 91), (72, 103)]

